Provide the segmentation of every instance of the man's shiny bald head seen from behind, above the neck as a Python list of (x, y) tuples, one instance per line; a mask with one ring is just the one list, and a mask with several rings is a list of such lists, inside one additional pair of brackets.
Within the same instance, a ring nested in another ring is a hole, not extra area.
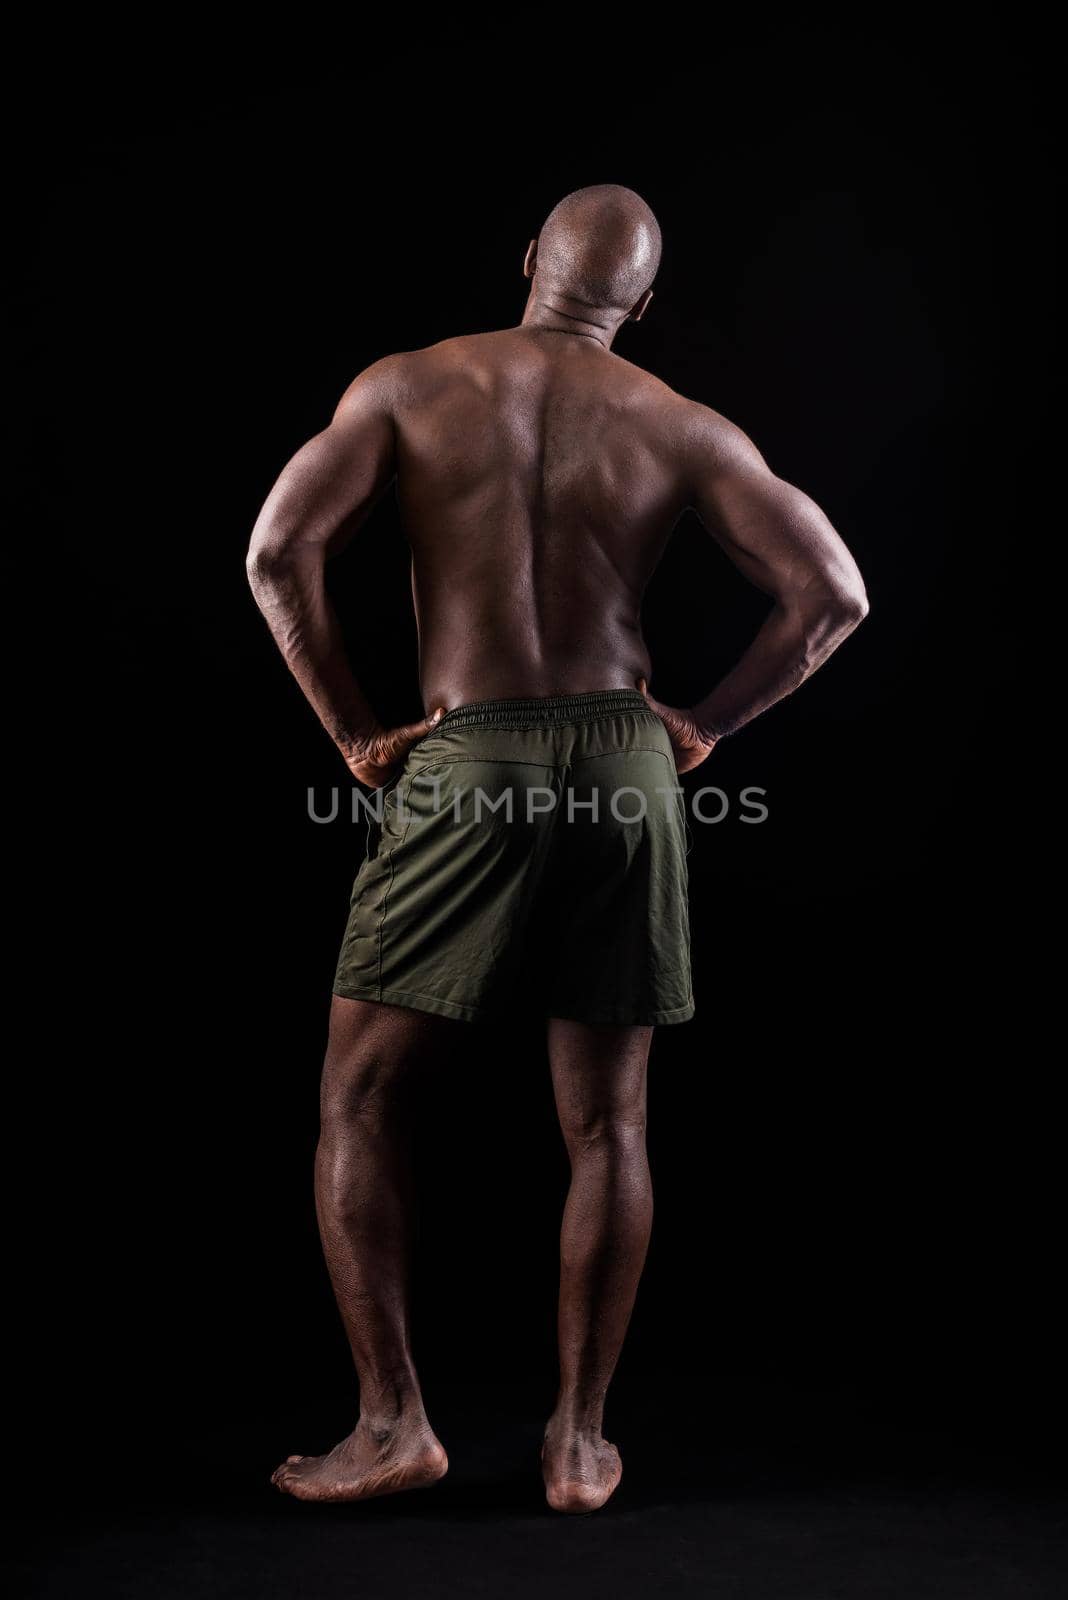
[(627, 315), (660, 264), (660, 226), (633, 189), (592, 184), (553, 206), (537, 235), (539, 282), (596, 310)]

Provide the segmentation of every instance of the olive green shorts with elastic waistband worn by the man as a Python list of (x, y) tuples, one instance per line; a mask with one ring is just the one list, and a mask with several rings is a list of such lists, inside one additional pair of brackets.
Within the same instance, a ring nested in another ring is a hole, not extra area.
[(683, 790), (638, 690), (456, 706), (366, 806), (336, 995), (467, 1021), (694, 1014)]

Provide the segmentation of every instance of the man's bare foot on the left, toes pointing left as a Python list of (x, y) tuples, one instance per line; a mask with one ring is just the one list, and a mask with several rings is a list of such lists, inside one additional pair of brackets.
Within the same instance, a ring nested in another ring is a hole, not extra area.
[(329, 1454), (289, 1456), (270, 1482), (297, 1499), (353, 1501), (425, 1488), (448, 1467), (449, 1458), (425, 1418), (389, 1427), (360, 1421)]

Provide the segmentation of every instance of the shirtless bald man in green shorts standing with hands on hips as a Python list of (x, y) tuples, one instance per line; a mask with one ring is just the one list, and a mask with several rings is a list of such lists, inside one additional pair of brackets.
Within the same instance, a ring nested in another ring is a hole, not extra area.
[[(256, 602), (382, 803), (334, 979), (315, 1166), (360, 1418), (329, 1454), (277, 1469), (299, 1499), (446, 1470), (409, 1342), (404, 1091), (444, 1032), (515, 1016), (531, 974), (571, 1157), (547, 1499), (595, 1510), (620, 1478), (601, 1419), (652, 1216), (646, 1061), (654, 1026), (694, 1010), (684, 821), (654, 790), (679, 795), (676, 773), (796, 690), (868, 610), (823, 512), (723, 416), (612, 354), (659, 259), (633, 190), (569, 194), (526, 251), (520, 325), (374, 362), (256, 522)], [(390, 486), (427, 712), (403, 728), (384, 728), (355, 683), (325, 587), (326, 560)], [(648, 691), (640, 606), (687, 507), (772, 606), (737, 666), (676, 709)], [(510, 816), (496, 810), (505, 787)], [(473, 790), (494, 810), (475, 814)], [(651, 802), (638, 824), (635, 794)]]

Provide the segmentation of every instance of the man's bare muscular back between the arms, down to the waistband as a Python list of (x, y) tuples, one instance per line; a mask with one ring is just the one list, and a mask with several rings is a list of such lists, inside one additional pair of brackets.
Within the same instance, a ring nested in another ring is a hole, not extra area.
[(686, 504), (684, 402), (547, 328), (392, 360), (424, 702), (633, 688), (641, 595)]

